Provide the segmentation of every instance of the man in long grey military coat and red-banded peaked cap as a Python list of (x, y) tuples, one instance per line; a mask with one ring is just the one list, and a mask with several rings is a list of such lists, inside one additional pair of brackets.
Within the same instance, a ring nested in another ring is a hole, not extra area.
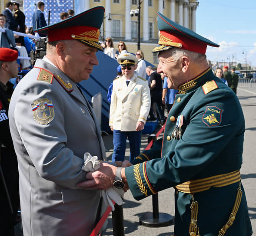
[(99, 220), (100, 192), (82, 190), (89, 152), (105, 158), (100, 128), (76, 83), (98, 64), (104, 8), (37, 29), (47, 53), (17, 85), (10, 131), (18, 158), (24, 235), (87, 236)]

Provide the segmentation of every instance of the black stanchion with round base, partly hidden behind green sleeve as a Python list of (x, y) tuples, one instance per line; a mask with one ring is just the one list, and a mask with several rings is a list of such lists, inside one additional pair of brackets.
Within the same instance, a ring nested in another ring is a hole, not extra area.
[[(148, 143), (153, 140), (156, 142), (156, 134), (150, 134)], [(153, 145), (152, 145), (153, 147)], [(167, 213), (159, 213), (158, 193), (152, 195), (153, 213), (146, 213), (140, 217), (140, 224), (147, 227), (164, 227), (170, 226), (173, 223), (173, 216)]]

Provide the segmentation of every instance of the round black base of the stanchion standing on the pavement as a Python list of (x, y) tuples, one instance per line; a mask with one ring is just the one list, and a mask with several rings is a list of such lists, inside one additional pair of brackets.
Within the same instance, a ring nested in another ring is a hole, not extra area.
[(173, 216), (167, 213), (159, 213), (158, 218), (153, 217), (153, 213), (149, 212), (140, 217), (140, 224), (146, 227), (164, 227), (173, 224)]

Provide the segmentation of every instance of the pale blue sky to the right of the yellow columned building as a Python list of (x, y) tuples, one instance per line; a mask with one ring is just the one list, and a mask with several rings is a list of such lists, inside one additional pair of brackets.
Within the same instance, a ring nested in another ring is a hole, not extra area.
[(220, 45), (207, 46), (212, 62), (247, 59), (256, 68), (256, 0), (199, 0), (196, 33)]

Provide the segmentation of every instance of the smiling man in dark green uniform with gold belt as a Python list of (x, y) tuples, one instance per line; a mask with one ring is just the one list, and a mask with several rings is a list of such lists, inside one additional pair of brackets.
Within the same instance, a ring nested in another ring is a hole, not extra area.
[(236, 95), (213, 75), (205, 55), (208, 45), (219, 45), (161, 13), (157, 24), (157, 72), (167, 76), (169, 88), (179, 91), (163, 140), (136, 157), (133, 166), (120, 170), (103, 163), (77, 186), (107, 189), (119, 179), (136, 200), (174, 187), (175, 236), (250, 236), (239, 172), (243, 111)]

